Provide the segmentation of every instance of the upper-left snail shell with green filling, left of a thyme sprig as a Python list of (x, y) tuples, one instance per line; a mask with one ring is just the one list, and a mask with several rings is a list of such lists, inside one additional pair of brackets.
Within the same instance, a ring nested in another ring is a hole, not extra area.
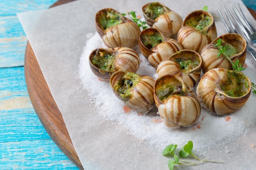
[[(109, 16), (116, 16), (116, 20), (120, 23), (111, 27), (105, 26), (103, 21)], [(139, 26), (114, 9), (106, 8), (98, 11), (95, 16), (95, 26), (104, 44), (109, 48), (119, 46), (134, 48), (138, 44)]]

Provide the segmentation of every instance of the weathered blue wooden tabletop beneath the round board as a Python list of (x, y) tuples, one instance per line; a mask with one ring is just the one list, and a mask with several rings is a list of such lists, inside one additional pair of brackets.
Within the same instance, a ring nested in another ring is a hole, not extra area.
[[(16, 13), (47, 9), (56, 0), (0, 0), (0, 170), (78, 170), (40, 123), (27, 93), (27, 38)], [(256, 11), (255, 0), (243, 0)]]

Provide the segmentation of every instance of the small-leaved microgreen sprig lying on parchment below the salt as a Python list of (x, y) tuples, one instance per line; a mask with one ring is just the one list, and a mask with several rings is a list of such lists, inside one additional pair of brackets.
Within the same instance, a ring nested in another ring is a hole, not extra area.
[(170, 159), (168, 161), (168, 167), (169, 167), (169, 170), (173, 170), (174, 169), (174, 166), (175, 164), (177, 165), (198, 165), (202, 162), (215, 162), (215, 163), (221, 163), (221, 161), (213, 161), (213, 160), (207, 160), (207, 157), (204, 158), (204, 159), (200, 159), (198, 158), (193, 152), (192, 152), (192, 149), (193, 149), (193, 142), (192, 141), (189, 141), (188, 144), (184, 145), (182, 147), (182, 150), (180, 150), (180, 153), (179, 153), (179, 156), (182, 157), (182, 158), (186, 158), (188, 157), (189, 155), (192, 155), (195, 159), (197, 159), (198, 161), (195, 161), (195, 162), (191, 162), (191, 161), (186, 161), (184, 159), (180, 159), (179, 156), (177, 156), (174, 151), (175, 149), (177, 148), (177, 145), (176, 144), (170, 144), (168, 146), (166, 146), (166, 148), (164, 148), (163, 152), (162, 152), (162, 155), (164, 155), (165, 157), (173, 157), (173, 159)]

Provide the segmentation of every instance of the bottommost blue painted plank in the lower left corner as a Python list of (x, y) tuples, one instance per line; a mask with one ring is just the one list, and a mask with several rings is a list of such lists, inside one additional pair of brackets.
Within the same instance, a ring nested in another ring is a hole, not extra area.
[(78, 170), (51, 139), (0, 143), (1, 170)]

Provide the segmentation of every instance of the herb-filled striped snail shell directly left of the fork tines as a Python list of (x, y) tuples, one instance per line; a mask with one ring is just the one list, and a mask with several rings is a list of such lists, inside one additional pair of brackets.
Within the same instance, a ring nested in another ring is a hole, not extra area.
[(191, 49), (198, 53), (202, 48), (217, 37), (213, 16), (203, 10), (193, 11), (183, 21), (177, 38), (184, 49)]

